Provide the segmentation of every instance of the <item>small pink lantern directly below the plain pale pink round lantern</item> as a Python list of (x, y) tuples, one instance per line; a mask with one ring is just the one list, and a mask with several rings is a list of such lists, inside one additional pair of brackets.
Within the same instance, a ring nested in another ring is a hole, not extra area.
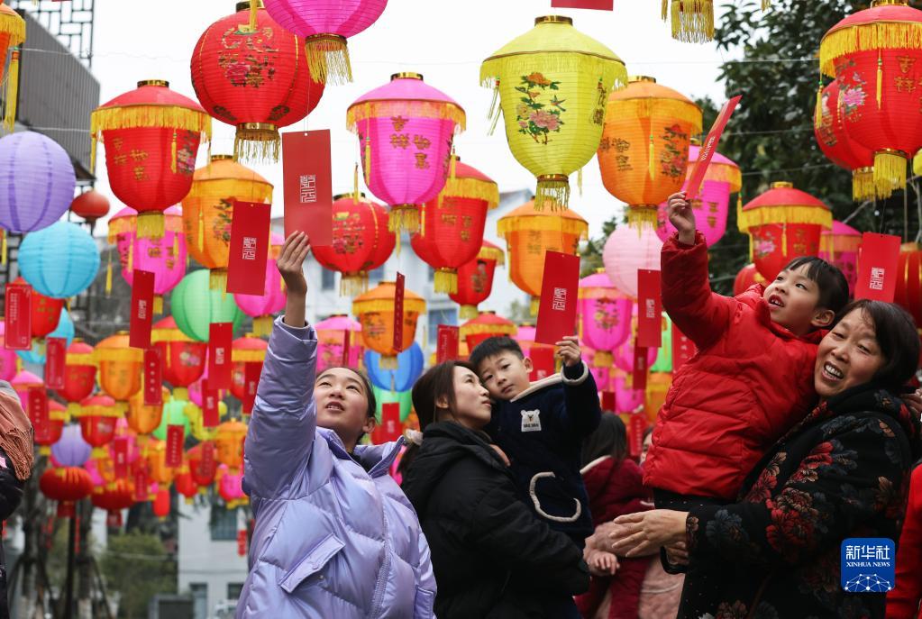
[(577, 307), (581, 341), (596, 349), (594, 368), (610, 368), (611, 353), (631, 335), (632, 306), (632, 300), (611, 284), (608, 274), (592, 274), (580, 280)]

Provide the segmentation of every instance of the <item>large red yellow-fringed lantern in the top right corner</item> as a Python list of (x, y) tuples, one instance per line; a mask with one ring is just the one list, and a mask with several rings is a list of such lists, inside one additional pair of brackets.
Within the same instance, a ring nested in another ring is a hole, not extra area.
[(922, 148), (922, 11), (873, 0), (823, 35), (820, 68), (839, 81), (845, 132), (874, 154), (877, 192), (904, 187), (906, 160)]

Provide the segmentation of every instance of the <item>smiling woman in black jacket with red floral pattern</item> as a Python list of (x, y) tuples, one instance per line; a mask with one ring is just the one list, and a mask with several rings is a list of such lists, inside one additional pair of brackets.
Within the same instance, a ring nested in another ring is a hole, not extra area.
[(843, 590), (840, 548), (898, 537), (919, 423), (893, 394), (916, 371), (918, 336), (890, 303), (855, 301), (841, 316), (817, 355), (820, 405), (756, 465), (738, 503), (615, 520), (619, 554), (686, 542), (690, 563), (722, 583), (700, 590), (690, 571), (680, 617), (884, 616), (884, 592)]

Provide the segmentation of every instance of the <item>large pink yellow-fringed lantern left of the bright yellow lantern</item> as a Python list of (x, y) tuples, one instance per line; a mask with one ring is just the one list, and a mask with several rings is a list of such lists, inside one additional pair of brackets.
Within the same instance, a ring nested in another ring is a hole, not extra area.
[(356, 99), (346, 122), (359, 134), (365, 184), (391, 207), (388, 228), (417, 232), (420, 204), (445, 186), (455, 132), (464, 131), (464, 110), (420, 74), (396, 73), (390, 83)]

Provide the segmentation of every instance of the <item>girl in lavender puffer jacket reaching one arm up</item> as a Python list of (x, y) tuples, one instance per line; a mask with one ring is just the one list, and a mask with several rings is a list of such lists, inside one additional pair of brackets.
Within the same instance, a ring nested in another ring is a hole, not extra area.
[(435, 578), (416, 512), (388, 467), (396, 443), (356, 445), (374, 427), (372, 388), (349, 368), (314, 380), (306, 325), (307, 237), (278, 258), (288, 286), (246, 438), (243, 487), (255, 530), (238, 619), (430, 619)]

